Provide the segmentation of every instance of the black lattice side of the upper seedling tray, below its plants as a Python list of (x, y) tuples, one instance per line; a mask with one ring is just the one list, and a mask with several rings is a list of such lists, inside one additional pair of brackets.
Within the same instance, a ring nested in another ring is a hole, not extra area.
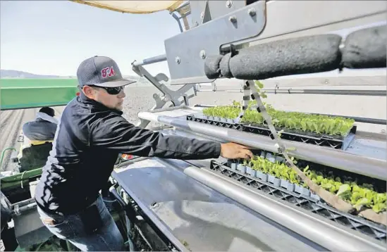
[[(236, 123), (235, 120), (226, 120), (225, 118), (204, 118), (197, 115), (187, 115), (187, 120), (193, 122), (202, 122), (209, 125), (226, 127), (228, 129), (241, 130), (244, 132), (250, 132), (253, 134), (262, 134), (264, 136), (271, 137), (271, 131), (265, 125), (247, 124), (247, 123)], [(275, 127), (277, 132), (284, 130), (281, 133), (281, 139), (290, 141), (300, 141), (305, 144), (314, 144), (319, 146), (328, 146), (333, 149), (345, 150), (348, 148), (352, 140), (355, 138), (357, 127), (354, 125), (346, 135), (342, 136), (331, 136), (326, 134), (317, 134), (314, 132), (303, 132), (300, 130), (289, 130), (280, 127)]]

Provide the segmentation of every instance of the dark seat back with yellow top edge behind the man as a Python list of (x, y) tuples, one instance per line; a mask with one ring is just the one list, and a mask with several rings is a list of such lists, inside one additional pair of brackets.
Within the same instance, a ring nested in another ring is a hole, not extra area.
[(19, 171), (42, 168), (52, 149), (52, 141), (30, 141), (30, 144), (20, 146), (18, 156)]

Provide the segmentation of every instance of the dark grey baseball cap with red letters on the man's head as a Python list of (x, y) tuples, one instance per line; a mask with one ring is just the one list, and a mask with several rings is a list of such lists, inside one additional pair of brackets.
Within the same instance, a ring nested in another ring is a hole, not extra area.
[(123, 79), (116, 61), (105, 56), (94, 56), (82, 61), (77, 70), (77, 77), (81, 88), (86, 85), (121, 87), (135, 82)]

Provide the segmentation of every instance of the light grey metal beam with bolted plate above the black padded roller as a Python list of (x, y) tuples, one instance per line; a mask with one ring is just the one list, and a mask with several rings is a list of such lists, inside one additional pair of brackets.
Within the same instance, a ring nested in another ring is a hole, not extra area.
[[(171, 84), (212, 82), (204, 75), (203, 59), (231, 51), (231, 44), (241, 49), (276, 39), (335, 33), (345, 28), (357, 30), (359, 25), (386, 20), (386, 6), (381, 1), (257, 1), (233, 12), (224, 11), (226, 1), (215, 2), (223, 8), (211, 5), (212, 1), (190, 1), (195, 29), (166, 39)], [(245, 1), (233, 3), (245, 5)], [(311, 18), (305, 20), (305, 11)], [(217, 14), (213, 17), (213, 13)], [(253, 25), (249, 20), (254, 18)]]

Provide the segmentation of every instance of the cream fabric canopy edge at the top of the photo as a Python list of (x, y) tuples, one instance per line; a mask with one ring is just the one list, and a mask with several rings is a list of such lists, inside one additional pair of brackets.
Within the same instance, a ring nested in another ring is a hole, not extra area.
[(106, 8), (122, 13), (147, 14), (157, 11), (174, 11), (183, 1), (84, 1), (70, 0), (79, 4), (87, 4), (97, 8)]

